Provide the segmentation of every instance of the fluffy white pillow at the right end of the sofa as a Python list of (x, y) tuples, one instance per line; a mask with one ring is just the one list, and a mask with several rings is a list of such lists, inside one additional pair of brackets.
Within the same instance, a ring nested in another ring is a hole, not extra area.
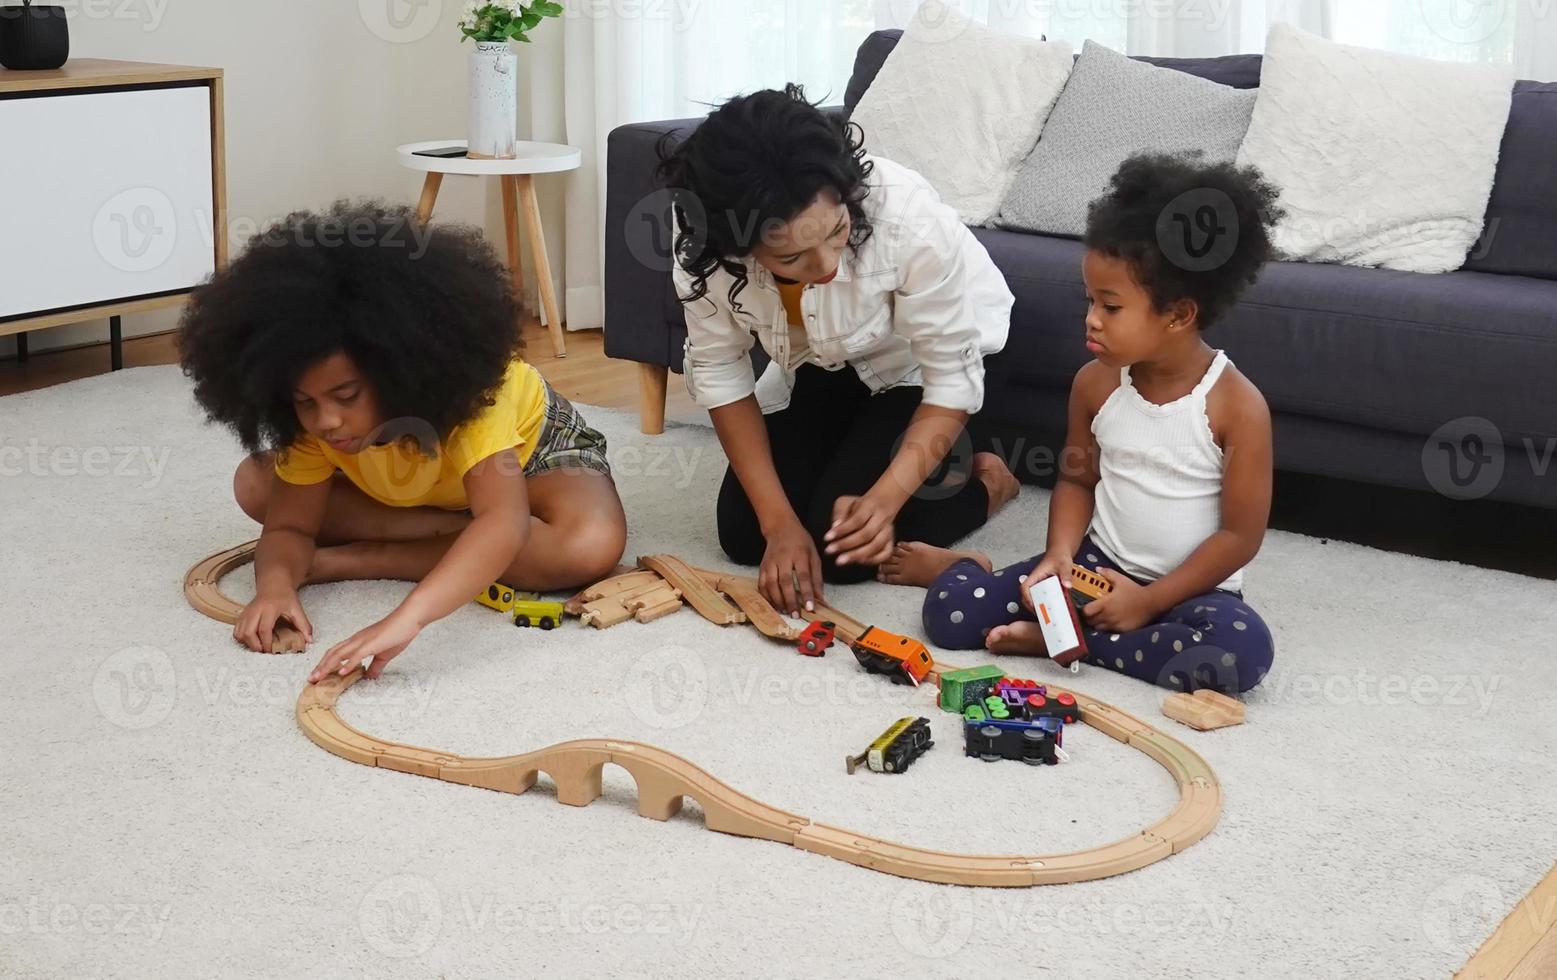
[(1271, 28), (1238, 151), (1281, 189), (1289, 259), (1446, 273), (1481, 237), (1507, 65), (1428, 61)]

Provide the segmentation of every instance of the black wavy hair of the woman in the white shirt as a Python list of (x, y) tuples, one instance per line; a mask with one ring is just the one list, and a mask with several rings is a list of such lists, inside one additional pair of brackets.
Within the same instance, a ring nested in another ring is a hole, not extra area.
[(722, 268), (735, 277), (730, 305), (746, 288), (746, 266), (763, 227), (794, 220), (824, 189), (849, 209), (849, 246), (870, 240), (864, 199), (873, 165), (864, 131), (830, 115), (796, 84), (764, 89), (724, 103), (685, 140), (671, 148), (660, 137), (655, 174), (680, 192), (674, 204), (676, 259), (691, 274), (696, 302), (708, 294), (708, 276)]

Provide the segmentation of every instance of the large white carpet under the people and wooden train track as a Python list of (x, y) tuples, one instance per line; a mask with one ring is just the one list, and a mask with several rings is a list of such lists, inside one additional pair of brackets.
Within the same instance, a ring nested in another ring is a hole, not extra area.
[[(713, 433), (589, 416), (629, 555), (719, 566)], [(1443, 977), (1557, 855), (1557, 586), (1292, 534), (1250, 575), (1278, 653), (1249, 724), (1190, 732), (1158, 690), (1076, 679), (1172, 728), (1227, 796), (1205, 841), (1104, 882), (898, 880), (707, 832), (691, 807), (638, 818), (610, 767), (606, 796), (573, 809), (545, 782), (514, 798), (352, 765), (293, 720), (318, 653), (243, 653), (179, 589), (254, 533), (230, 502), (238, 458), (174, 368), (0, 400), (0, 975)], [(973, 544), (1035, 550), (1045, 505), (1025, 491)], [(330, 643), (403, 589), (304, 601)], [(831, 598), (916, 631), (912, 590)], [(845, 776), (905, 714), (931, 717), (936, 749)], [(1107, 843), (1174, 802), (1155, 763), (1098, 732), (1067, 732), (1056, 768), (964, 759), (930, 693), (688, 611), (542, 634), (470, 606), (343, 715), (462, 754), (638, 739), (813, 820), (968, 852)]]

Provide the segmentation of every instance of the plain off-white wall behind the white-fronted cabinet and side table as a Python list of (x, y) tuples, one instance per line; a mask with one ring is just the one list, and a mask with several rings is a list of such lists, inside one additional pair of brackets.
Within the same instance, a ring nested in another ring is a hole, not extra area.
[[(466, 134), (466, 58), (472, 45), (459, 44), (455, 28), (464, 6), (459, 0), (58, 2), (69, 11), (72, 58), (224, 69), (232, 254), (248, 234), (296, 209), (324, 207), (343, 196), (416, 203), (422, 174), (400, 167), (394, 148)], [(514, 45), (522, 78), (529, 59), (561, 50), (561, 26), (548, 22), (537, 44)], [(520, 97), (522, 136), (528, 134), (528, 106), (536, 101), (532, 93)], [(543, 125), (548, 132), (534, 139), (561, 139), (557, 122)], [(103, 165), (112, 167), (112, 160)], [(537, 182), (554, 259), (562, 256), (559, 203), (568, 179)], [(481, 224), (501, 252), (495, 181), (447, 178), (436, 218)], [(528, 254), (525, 273), (526, 291), (534, 294)], [(553, 270), (561, 280), (559, 273)], [(176, 324), (177, 310), (126, 316), (125, 333)], [(89, 321), (31, 333), (30, 346), (44, 351), (106, 338), (107, 321)], [(0, 355), (12, 351), (12, 340), (0, 338)]]

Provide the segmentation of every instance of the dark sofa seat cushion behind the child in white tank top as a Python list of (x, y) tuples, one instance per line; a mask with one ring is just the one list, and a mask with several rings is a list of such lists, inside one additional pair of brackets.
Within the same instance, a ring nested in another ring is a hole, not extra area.
[[(976, 229), (1017, 296), (1001, 369), (1068, 386), (1088, 358), (1079, 241)], [(1557, 435), (1557, 284), (1277, 262), (1207, 332), (1277, 413), (1428, 435), (1481, 416), (1504, 439)], [(1545, 442), (1541, 442), (1543, 446)]]

